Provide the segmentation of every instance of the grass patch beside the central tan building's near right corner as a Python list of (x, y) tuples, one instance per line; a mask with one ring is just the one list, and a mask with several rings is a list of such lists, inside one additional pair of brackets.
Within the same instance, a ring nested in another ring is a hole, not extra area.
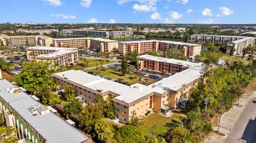
[(173, 113), (171, 117), (165, 117), (157, 113), (153, 113), (142, 119), (144, 123), (141, 125), (140, 129), (143, 134), (150, 134), (150, 128), (155, 126), (158, 133), (164, 133), (168, 129), (166, 126), (169, 123), (171, 124), (175, 121), (180, 121), (180, 117), (184, 116), (184, 114)]

